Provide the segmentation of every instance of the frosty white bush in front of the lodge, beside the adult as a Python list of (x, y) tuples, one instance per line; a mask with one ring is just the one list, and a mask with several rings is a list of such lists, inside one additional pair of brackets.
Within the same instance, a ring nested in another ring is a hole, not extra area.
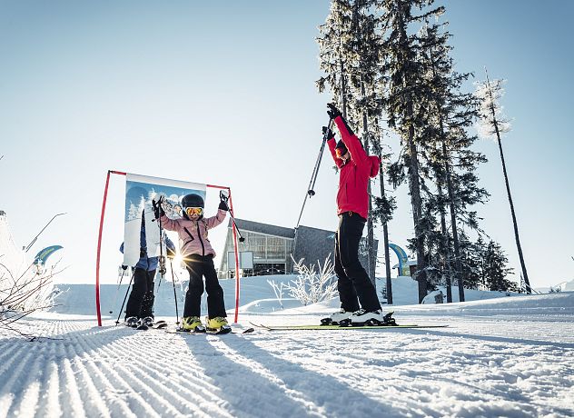
[(303, 259), (295, 262), (292, 258), (295, 270), (299, 275), (285, 286), (295, 299), (303, 305), (316, 304), (327, 299), (331, 299), (337, 294), (337, 281), (334, 279), (334, 266), (331, 262), (331, 254), (327, 256), (325, 262), (317, 261), (319, 273), (315, 273), (314, 264), (311, 267), (303, 264)]

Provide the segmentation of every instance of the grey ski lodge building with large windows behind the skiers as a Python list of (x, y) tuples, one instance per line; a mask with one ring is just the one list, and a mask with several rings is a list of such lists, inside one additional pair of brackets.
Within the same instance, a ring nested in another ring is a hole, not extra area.
[[(331, 254), (334, 264), (333, 250), (335, 246), (335, 233), (324, 229), (300, 225), (299, 228), (285, 228), (270, 224), (235, 219), (237, 227), (245, 239), (239, 242), (238, 252), (242, 276), (267, 274), (292, 274), (293, 261), (304, 258), (304, 264), (324, 264)], [(378, 241), (375, 240), (375, 250)], [(366, 239), (363, 237), (359, 250), (359, 259), (363, 266), (367, 266)], [(221, 253), (222, 261), (219, 269), (219, 278), (230, 278), (235, 274), (235, 256), (233, 253), (232, 220), (227, 225), (225, 246)]]

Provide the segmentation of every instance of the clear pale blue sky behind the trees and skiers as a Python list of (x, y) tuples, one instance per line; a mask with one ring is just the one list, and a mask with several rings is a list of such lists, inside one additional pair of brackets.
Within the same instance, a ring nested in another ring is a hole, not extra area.
[[(446, 6), (457, 70), (481, 80), (486, 65), (508, 79), (502, 104), (513, 130), (503, 146), (530, 281), (572, 279), (574, 3), (437, 5)], [(1, 2), (0, 209), (16, 242), (28, 244), (66, 212), (30, 253), (62, 244), (69, 267), (56, 279), (92, 282), (107, 170), (228, 185), (237, 217), (294, 226), (327, 123), (314, 38), (328, 11), (319, 0)], [(490, 160), (480, 168), (492, 194), (478, 208), (482, 226), (518, 272), (497, 146), (476, 149)], [(302, 224), (334, 229), (337, 177), (327, 154)], [(406, 193), (396, 191), (390, 225), (401, 246), (412, 230)], [(113, 176), (104, 282), (121, 259), (123, 209), (124, 178)], [(216, 251), (224, 229), (213, 232)]]

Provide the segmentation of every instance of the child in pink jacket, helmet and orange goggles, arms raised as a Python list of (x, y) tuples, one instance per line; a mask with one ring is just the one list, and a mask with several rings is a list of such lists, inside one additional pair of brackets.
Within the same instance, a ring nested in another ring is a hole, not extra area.
[(189, 288), (185, 294), (183, 308), (183, 329), (186, 331), (203, 332), (205, 327), (200, 319), (200, 308), (203, 295), (203, 276), (207, 291), (207, 323), (210, 330), (229, 329), (223, 289), (217, 279), (213, 265), (212, 244), (209, 242), (207, 231), (221, 224), (227, 215), (226, 197), (221, 196), (219, 210), (215, 216), (203, 217), (203, 197), (199, 194), (186, 194), (182, 199), (183, 218), (170, 219), (163, 212), (162, 199), (153, 201), (155, 218), (159, 219), (162, 227), (168, 231), (176, 231), (182, 244), (180, 253), (189, 272)]

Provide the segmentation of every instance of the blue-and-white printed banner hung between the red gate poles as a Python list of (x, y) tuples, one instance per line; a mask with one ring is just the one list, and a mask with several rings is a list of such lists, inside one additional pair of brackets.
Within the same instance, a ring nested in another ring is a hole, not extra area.
[[(153, 216), (152, 200), (163, 196), (163, 210), (170, 219), (182, 217), (182, 197), (199, 194), (205, 200), (205, 184), (180, 182), (139, 174), (125, 179), (124, 265), (135, 265), (144, 245), (148, 257), (160, 254), (160, 228)], [(145, 243), (140, 242), (145, 227)]]

